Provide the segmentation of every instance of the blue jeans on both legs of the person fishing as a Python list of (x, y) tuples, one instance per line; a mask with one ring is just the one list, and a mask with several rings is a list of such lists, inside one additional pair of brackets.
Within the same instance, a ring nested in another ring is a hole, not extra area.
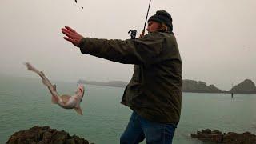
[(175, 129), (174, 124), (150, 122), (133, 112), (120, 143), (137, 144), (146, 138), (147, 144), (171, 144)]

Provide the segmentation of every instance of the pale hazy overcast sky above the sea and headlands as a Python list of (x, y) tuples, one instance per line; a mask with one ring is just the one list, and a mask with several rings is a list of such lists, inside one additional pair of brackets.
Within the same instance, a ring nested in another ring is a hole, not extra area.
[[(126, 81), (133, 66), (80, 50), (62, 37), (70, 26), (90, 38), (128, 39), (142, 32), (149, 0), (1, 0), (0, 74), (38, 78), (30, 62), (50, 79), (65, 82)], [(221, 90), (246, 78), (256, 82), (255, 0), (152, 0), (150, 15), (168, 11), (183, 62), (182, 79)], [(81, 10), (83, 7), (83, 10)]]

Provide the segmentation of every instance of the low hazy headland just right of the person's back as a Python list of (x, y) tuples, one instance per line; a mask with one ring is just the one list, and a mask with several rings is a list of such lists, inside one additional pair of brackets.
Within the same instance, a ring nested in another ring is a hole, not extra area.
[(185, 79), (183, 80), (182, 91), (193, 92), (193, 93), (221, 93), (222, 90), (218, 89), (214, 85), (206, 85), (206, 82), (194, 81)]

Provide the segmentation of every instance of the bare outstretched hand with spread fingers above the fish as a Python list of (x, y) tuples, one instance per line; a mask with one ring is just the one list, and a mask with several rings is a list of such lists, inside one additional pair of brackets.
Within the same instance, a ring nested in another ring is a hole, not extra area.
[(62, 33), (66, 35), (66, 37), (63, 38), (66, 39), (66, 41), (73, 43), (74, 46), (78, 46), (83, 38), (81, 34), (78, 34), (69, 26), (65, 26), (65, 28), (62, 28)]

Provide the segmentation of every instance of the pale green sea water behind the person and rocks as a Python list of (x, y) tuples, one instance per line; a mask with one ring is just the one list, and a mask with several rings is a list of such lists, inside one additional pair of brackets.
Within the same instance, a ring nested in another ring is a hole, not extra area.
[[(74, 94), (76, 83), (54, 82), (60, 94)], [(96, 144), (119, 143), (131, 110), (120, 104), (124, 88), (85, 85), (82, 116), (51, 104), (39, 78), (0, 76), (0, 143), (32, 126), (50, 126)], [(197, 130), (256, 134), (256, 95), (182, 93), (182, 116), (174, 144), (203, 143), (190, 138)], [(146, 143), (146, 142), (143, 142)]]

